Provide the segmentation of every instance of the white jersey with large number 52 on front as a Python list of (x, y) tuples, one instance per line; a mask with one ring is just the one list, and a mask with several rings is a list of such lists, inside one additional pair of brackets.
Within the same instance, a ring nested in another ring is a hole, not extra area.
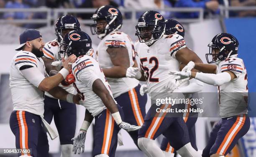
[(180, 64), (175, 55), (185, 47), (184, 39), (178, 34), (163, 35), (149, 47), (145, 43), (135, 43), (150, 95), (152, 92), (163, 92), (169, 79), (176, 77), (168, 72), (179, 71)]

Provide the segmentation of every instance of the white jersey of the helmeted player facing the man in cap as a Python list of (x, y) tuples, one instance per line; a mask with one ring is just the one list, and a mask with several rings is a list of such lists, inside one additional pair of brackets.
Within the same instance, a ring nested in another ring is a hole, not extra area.
[(72, 72), (76, 79), (74, 87), (82, 97), (80, 104), (92, 113), (92, 116), (97, 116), (103, 109), (106, 109), (106, 106), (100, 97), (92, 91), (93, 82), (96, 79), (100, 79), (110, 92), (110, 95), (113, 96), (99, 63), (91, 56), (79, 56), (77, 61), (72, 64)]

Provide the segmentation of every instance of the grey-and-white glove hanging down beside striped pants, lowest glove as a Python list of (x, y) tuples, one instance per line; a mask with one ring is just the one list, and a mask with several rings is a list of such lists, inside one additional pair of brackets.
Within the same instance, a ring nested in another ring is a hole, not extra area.
[(86, 138), (86, 131), (80, 129), (77, 137), (74, 137), (71, 139), (74, 142), (73, 150), (72, 150), (74, 154), (77, 154), (77, 153), (80, 154), (81, 150), (82, 150), (82, 153), (84, 153), (85, 138)]

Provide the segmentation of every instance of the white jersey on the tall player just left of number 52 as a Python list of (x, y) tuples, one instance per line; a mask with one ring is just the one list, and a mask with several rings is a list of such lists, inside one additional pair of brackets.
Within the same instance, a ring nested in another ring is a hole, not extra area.
[[(112, 68), (114, 66), (107, 52), (108, 47), (127, 48), (130, 58), (130, 66), (134, 65), (136, 53), (134, 51), (133, 42), (127, 34), (116, 31), (106, 35), (100, 41), (95, 58), (99, 62), (101, 68)], [(129, 91), (130, 89), (133, 89), (138, 85), (138, 80), (127, 77), (119, 79), (107, 77), (107, 80), (111, 86), (111, 91), (113, 92), (114, 98), (120, 96), (120, 94)]]

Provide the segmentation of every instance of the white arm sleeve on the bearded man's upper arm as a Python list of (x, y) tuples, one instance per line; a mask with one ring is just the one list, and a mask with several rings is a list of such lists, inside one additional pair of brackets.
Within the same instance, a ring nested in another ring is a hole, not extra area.
[(45, 76), (38, 71), (36, 67), (27, 68), (20, 71), (23, 76), (34, 86), (38, 87), (41, 81), (44, 80)]

